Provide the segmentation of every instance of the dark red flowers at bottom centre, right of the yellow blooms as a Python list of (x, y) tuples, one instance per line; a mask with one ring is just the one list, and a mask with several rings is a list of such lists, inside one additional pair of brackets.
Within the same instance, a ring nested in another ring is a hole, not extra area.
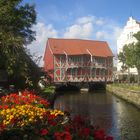
[[(75, 116), (64, 126), (64, 130), (72, 135), (74, 140), (113, 140), (103, 129), (95, 128), (90, 121), (82, 116)], [(65, 139), (67, 140), (67, 139)]]

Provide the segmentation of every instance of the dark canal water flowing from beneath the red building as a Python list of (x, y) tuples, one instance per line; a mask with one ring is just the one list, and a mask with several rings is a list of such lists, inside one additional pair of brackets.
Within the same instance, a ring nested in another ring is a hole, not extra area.
[(114, 140), (140, 140), (140, 110), (109, 93), (64, 93), (57, 97), (54, 108), (89, 118)]

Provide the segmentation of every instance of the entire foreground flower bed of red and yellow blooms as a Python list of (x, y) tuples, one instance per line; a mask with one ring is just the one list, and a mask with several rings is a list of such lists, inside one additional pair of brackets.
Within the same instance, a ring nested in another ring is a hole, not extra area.
[(0, 99), (2, 140), (113, 140), (103, 130), (76, 116), (48, 108), (48, 101), (31, 92)]

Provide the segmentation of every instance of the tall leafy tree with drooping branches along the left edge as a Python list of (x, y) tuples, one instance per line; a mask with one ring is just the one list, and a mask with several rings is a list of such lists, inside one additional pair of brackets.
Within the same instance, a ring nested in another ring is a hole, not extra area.
[(10, 78), (30, 79), (25, 46), (35, 39), (32, 30), (35, 23), (33, 5), (23, 5), (22, 0), (0, 0), (0, 68)]

